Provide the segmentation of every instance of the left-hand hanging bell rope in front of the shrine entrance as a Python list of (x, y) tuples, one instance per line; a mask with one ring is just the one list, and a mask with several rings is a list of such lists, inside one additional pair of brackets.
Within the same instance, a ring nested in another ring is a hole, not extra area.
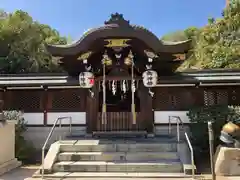
[(107, 106), (106, 106), (106, 61), (108, 59), (108, 55), (106, 52), (103, 55), (102, 65), (103, 65), (103, 103), (102, 103), (102, 124), (107, 124)]

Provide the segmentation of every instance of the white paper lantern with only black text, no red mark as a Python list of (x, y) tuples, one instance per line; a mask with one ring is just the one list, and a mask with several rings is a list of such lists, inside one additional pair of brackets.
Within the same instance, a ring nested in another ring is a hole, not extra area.
[(145, 87), (154, 87), (157, 85), (158, 74), (156, 71), (147, 70), (142, 74), (143, 84)]

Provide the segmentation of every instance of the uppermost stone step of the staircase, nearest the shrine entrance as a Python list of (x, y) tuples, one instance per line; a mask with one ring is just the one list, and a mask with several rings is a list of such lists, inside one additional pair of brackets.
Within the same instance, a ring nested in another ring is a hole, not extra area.
[(61, 144), (60, 152), (168, 152), (177, 151), (176, 143)]

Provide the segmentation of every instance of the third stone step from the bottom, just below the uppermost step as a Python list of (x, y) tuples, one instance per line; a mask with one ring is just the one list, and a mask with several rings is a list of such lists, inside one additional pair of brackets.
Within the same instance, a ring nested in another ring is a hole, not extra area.
[(58, 161), (154, 161), (157, 159), (179, 159), (176, 152), (63, 152)]

